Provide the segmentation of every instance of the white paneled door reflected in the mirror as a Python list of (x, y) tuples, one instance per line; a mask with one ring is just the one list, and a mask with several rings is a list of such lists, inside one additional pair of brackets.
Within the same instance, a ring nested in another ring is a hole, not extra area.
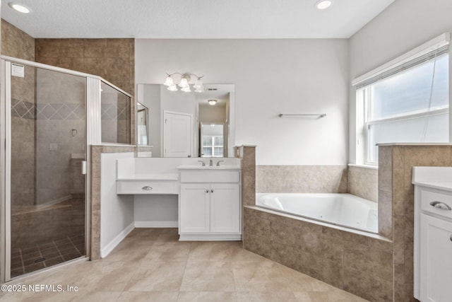
[(164, 113), (163, 157), (191, 157), (192, 116), (182, 112)]

